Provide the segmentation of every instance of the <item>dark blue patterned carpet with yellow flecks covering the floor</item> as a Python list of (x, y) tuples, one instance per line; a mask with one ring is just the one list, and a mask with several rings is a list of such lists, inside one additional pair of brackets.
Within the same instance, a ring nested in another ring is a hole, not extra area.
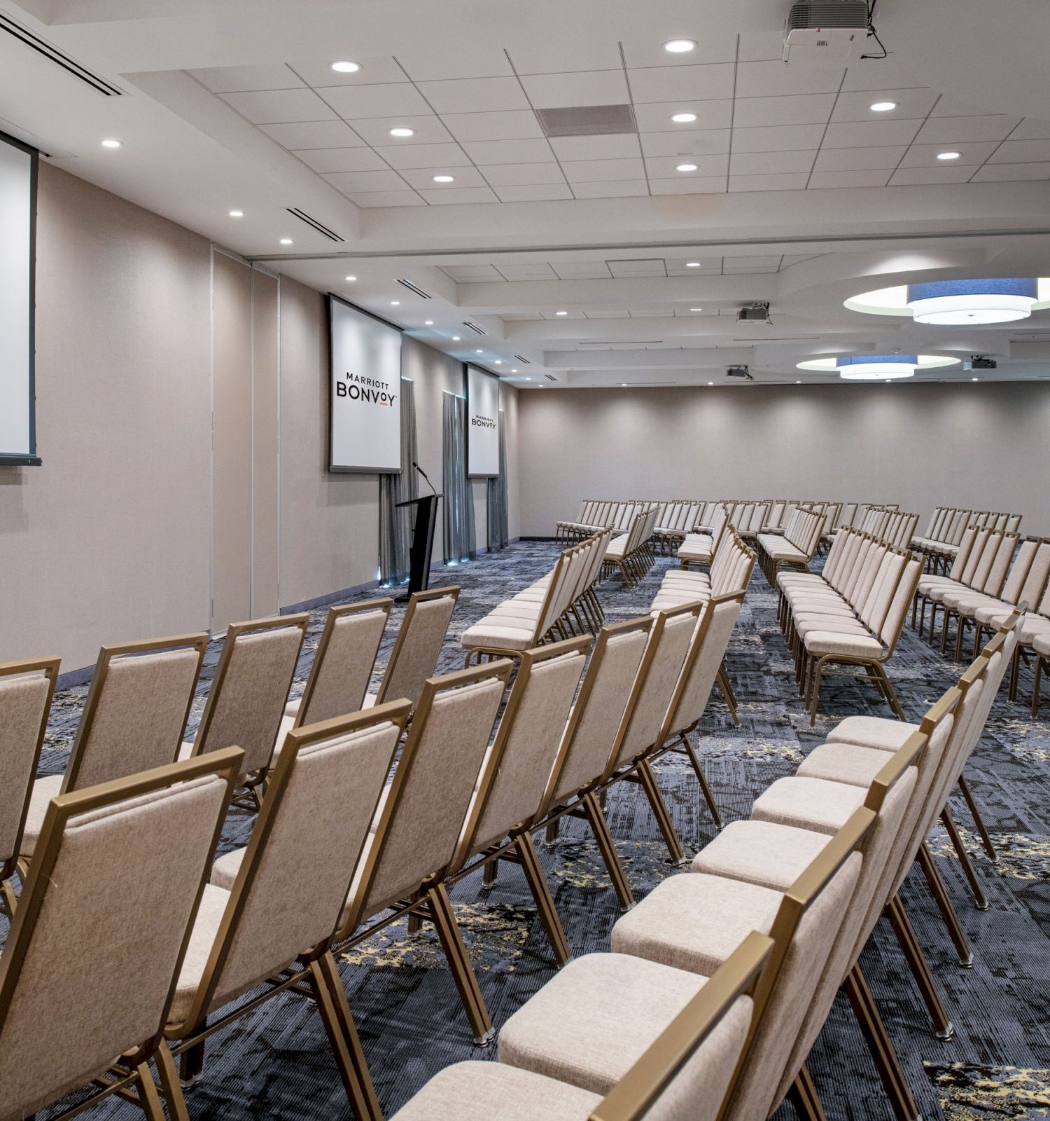
[[(448, 583), (459, 583), (462, 594), (442, 669), (462, 665), (460, 631), (496, 601), (546, 571), (555, 554), (551, 543), (527, 541), (448, 571)], [(657, 562), (647, 578), (630, 590), (618, 576), (601, 585), (599, 594), (609, 620), (644, 613), (671, 563)], [(433, 584), (442, 576), (435, 573)], [(402, 613), (396, 606), (379, 668)], [(315, 612), (297, 689), (306, 677), (322, 619), (324, 611)], [(213, 643), (201, 695), (194, 706), (194, 725), (216, 658)], [(754, 796), (774, 779), (791, 773), (835, 721), (853, 713), (890, 715), (873, 688), (833, 678), (822, 693), (825, 715), (809, 729), (776, 626), (775, 597), (758, 572), (728, 661), (742, 726), (732, 726), (721, 698), (714, 697), (700, 735), (707, 776), (726, 821), (746, 816)], [(890, 664), (909, 719), (918, 719), (958, 671), (908, 630)], [(983, 853), (976, 856), (992, 901), (990, 911), (978, 912), (969, 904), (946, 837), (934, 837), (949, 891), (974, 945), (973, 969), (958, 966), (925, 887), (915, 877), (904, 886), (906, 905), (957, 1027), (955, 1038), (947, 1043), (934, 1038), (884, 921), (862, 958), (925, 1118), (1029, 1121), (1050, 1117), (1050, 702), (1040, 721), (1030, 721), (1030, 676), (1022, 676), (1022, 704), (1011, 705), (1001, 694), (968, 770), (1002, 853), (999, 868)], [(46, 773), (65, 765), (85, 692), (73, 688), (56, 697), (43, 761)], [(658, 778), (683, 843), (695, 851), (713, 835), (695, 777), (684, 760), (674, 757), (660, 762)], [(609, 817), (628, 874), (643, 896), (673, 872), (655, 822), (634, 787), (613, 791)], [(956, 817), (963, 824), (969, 822), (965, 808)], [(244, 843), (250, 823), (246, 814), (231, 815), (224, 850)], [(972, 842), (971, 831), (967, 843)], [(976, 844), (973, 847), (976, 852)], [(541, 859), (574, 952), (608, 948), (616, 899), (582, 824), (564, 828), (555, 849), (541, 847)], [(554, 966), (519, 873), (501, 869), (498, 886), (487, 896), (478, 891), (479, 880), (480, 873), (461, 882), (453, 901), (498, 1028), (553, 974)], [(0, 935), (4, 934), (0, 925)], [(465, 1058), (496, 1057), (495, 1047), (478, 1050), (471, 1045), (451, 978), (429, 928), (409, 937), (404, 927), (388, 927), (346, 955), (340, 970), (387, 1115), (441, 1067)], [(833, 1121), (890, 1117), (860, 1032), (841, 998), (810, 1057), (810, 1069)], [(205, 1080), (188, 1094), (188, 1105), (195, 1121), (259, 1117), (328, 1121), (349, 1115), (318, 1017), (294, 995), (276, 998), (213, 1037)], [(107, 1103), (96, 1112), (130, 1115), (132, 1110), (126, 1103)], [(776, 1117), (789, 1121), (794, 1112), (784, 1105)]]

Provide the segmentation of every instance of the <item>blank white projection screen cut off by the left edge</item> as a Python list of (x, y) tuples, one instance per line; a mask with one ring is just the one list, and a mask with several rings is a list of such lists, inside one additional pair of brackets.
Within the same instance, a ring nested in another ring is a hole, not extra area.
[(0, 132), (0, 466), (36, 464), (32, 271), (37, 154)]

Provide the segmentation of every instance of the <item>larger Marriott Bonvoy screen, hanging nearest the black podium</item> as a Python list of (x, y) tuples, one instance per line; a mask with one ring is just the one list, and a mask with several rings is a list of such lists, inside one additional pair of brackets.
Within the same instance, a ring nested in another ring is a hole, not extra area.
[(401, 332), (328, 297), (329, 471), (401, 471)]

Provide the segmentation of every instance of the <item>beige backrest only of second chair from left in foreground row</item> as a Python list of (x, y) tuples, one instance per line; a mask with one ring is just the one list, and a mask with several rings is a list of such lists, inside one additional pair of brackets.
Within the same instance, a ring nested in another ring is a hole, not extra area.
[(172, 1010), (184, 1032), (328, 947), (409, 710), (395, 701), (288, 733), (200, 983)]

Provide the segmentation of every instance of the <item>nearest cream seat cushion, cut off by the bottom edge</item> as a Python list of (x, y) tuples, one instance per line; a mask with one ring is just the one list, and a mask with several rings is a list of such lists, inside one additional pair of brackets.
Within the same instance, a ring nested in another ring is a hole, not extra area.
[(506, 1063), (453, 1063), (391, 1121), (587, 1121), (598, 1094)]

